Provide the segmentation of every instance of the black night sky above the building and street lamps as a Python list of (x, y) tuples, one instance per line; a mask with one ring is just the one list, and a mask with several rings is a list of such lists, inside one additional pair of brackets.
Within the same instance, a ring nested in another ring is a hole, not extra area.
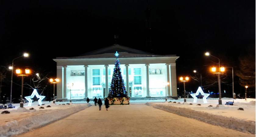
[[(146, 46), (147, 8), (151, 47)], [(11, 65), (26, 51), (30, 58), (16, 63), (56, 69), (53, 58), (111, 46), (116, 44), (115, 34), (117, 44), (180, 56), (177, 77), (192, 75), (194, 69), (203, 72), (218, 62), (205, 57), (206, 51), (235, 67), (240, 54), (251, 47), (255, 50), (255, 1), (0, 1), (2, 66)]]

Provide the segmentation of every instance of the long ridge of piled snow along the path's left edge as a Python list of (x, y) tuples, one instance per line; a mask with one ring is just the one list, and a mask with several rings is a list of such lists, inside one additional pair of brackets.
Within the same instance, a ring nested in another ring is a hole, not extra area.
[[(30, 117), (21, 118), (18, 121), (10, 121), (7, 124), (0, 126), (0, 136), (12, 136), (19, 135), (25, 132), (28, 132), (31, 129), (39, 128), (51, 122), (57, 121), (59, 119), (65, 118), (71, 114), (75, 114), (79, 111), (82, 111), (91, 104), (76, 104), (76, 105), (62, 105), (59, 109), (52, 109), (51, 111), (37, 110), (40, 111), (40, 116), (38, 117), (37, 111), (35, 114)], [(54, 106), (52, 106), (54, 107)], [(27, 110), (34, 111), (34, 110)], [(44, 111), (42, 113), (41, 111)], [(41, 114), (42, 113), (42, 114)]]

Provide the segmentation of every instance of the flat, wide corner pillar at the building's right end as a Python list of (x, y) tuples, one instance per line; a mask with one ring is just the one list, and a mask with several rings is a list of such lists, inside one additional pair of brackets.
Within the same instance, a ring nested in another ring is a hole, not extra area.
[(178, 99), (177, 96), (177, 77), (176, 77), (176, 63), (171, 63), (171, 91), (172, 91), (172, 98)]

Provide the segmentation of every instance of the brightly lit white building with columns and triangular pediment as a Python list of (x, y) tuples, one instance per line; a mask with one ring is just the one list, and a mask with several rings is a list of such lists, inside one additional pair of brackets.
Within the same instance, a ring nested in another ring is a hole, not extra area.
[[(107, 97), (118, 52), (128, 97), (177, 97), (176, 55), (155, 55), (114, 44), (77, 57), (57, 57), (57, 99)], [(68, 87), (68, 83), (73, 83)], [(170, 83), (169, 85), (165, 83)], [(167, 85), (167, 86), (165, 86)], [(108, 90), (105, 90), (108, 87)], [(127, 88), (129, 87), (129, 88)], [(167, 95), (166, 95), (167, 94)]]

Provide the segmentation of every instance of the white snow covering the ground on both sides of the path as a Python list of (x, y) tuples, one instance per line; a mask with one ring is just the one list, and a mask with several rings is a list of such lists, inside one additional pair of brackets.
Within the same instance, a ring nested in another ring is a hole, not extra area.
[[(197, 103), (193, 103), (193, 100), (190, 98), (187, 98), (187, 102), (181, 98), (178, 100), (168, 99), (167, 102), (165, 100), (131, 100), (129, 106), (137, 107), (138, 105), (133, 104), (144, 104), (208, 124), (255, 135), (255, 99), (236, 99), (233, 106), (225, 105), (228, 101), (233, 102), (232, 98), (226, 97), (222, 98), (222, 105), (219, 105), (219, 98), (208, 98), (208, 103), (205, 104), (202, 99), (198, 99)], [(52, 101), (42, 101), (44, 105), (41, 106), (38, 106), (38, 102), (33, 102), (32, 106), (26, 106), (28, 103), (25, 103), (23, 108), (20, 108), (20, 104), (12, 104), (16, 108), (1, 109), (0, 112), (9, 111), (10, 113), (0, 114), (0, 137), (15, 136), (33, 131), (35, 128), (58, 121), (79, 111), (86, 111), (88, 107), (94, 105), (93, 101), (89, 103), (72, 102), (69, 105), (67, 103), (70, 103), (69, 100), (55, 104)], [(51, 107), (47, 107), (48, 105)], [(30, 110), (32, 107), (34, 110)], [(44, 107), (44, 109), (39, 107)], [(103, 111), (105, 111), (104, 107), (103, 104)], [(127, 107), (130, 109), (128, 111), (133, 111), (133, 107)], [(243, 108), (244, 111), (238, 110), (238, 108)]]

